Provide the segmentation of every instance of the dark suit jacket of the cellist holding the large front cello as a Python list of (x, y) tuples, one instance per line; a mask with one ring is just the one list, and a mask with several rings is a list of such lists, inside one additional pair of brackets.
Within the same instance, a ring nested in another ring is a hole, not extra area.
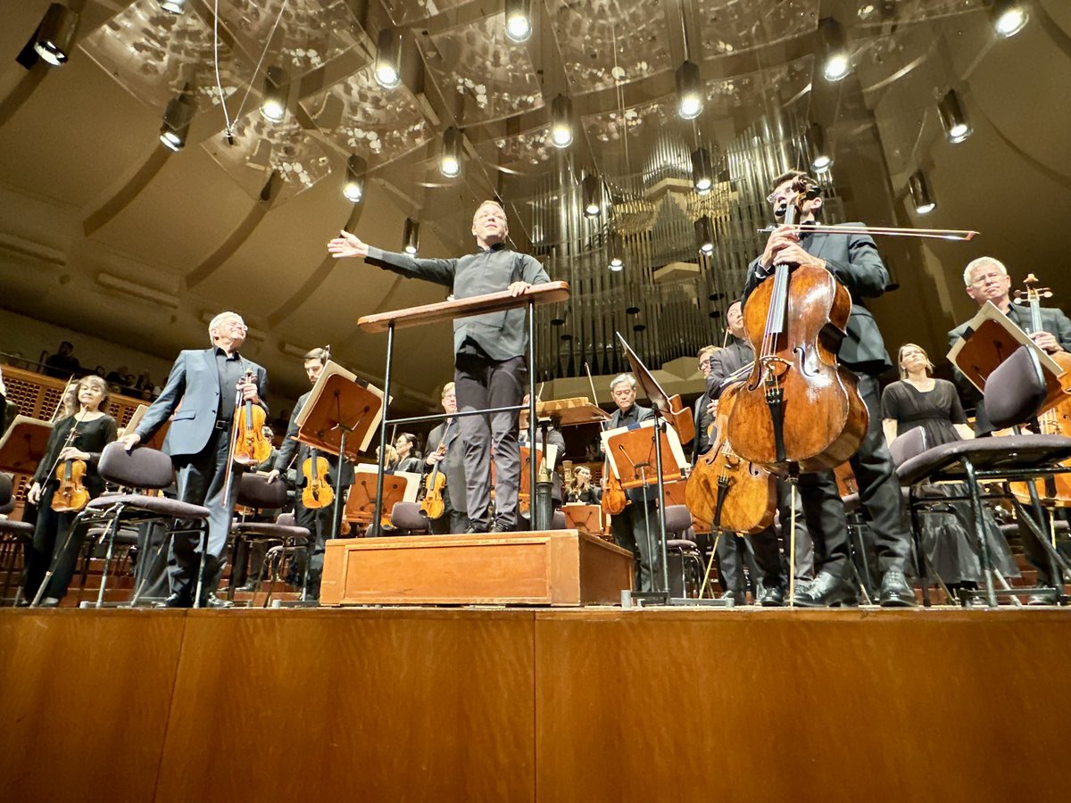
[[(815, 233), (802, 236), (800, 244), (808, 254), (825, 259), (829, 272), (851, 294), (851, 316), (846, 328), (847, 336), (838, 354), (839, 360), (860, 373), (877, 375), (888, 370), (892, 367), (892, 361), (886, 351), (877, 322), (863, 302), (863, 299), (880, 296), (889, 284), (889, 272), (877, 253), (877, 246), (865, 234), (824, 234), (821, 229), (823, 226), (817, 226)], [(745, 303), (759, 283), (772, 273), (772, 268), (764, 269), (757, 258), (748, 267), (743, 293)]]

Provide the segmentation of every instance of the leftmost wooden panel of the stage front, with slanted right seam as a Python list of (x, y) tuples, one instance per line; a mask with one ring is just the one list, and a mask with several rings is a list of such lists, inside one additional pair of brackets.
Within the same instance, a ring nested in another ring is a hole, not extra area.
[(0, 610), (0, 799), (151, 801), (183, 621)]

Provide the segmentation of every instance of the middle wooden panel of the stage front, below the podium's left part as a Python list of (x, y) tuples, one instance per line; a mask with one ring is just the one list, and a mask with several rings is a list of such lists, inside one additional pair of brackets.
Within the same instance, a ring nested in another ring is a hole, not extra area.
[(156, 801), (531, 801), (532, 617), (191, 612)]

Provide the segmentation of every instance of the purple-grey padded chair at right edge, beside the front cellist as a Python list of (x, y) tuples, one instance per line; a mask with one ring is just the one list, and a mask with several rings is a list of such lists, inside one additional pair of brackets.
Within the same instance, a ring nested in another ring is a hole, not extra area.
[[(1045, 400), (1045, 379), (1038, 358), (1025, 346), (1021, 346), (1011, 357), (998, 365), (985, 381), (983, 392), (985, 411), (996, 429), (1015, 428), (1036, 421)], [(982, 595), (990, 607), (996, 607), (997, 595), (1010, 596), (1016, 605), (1016, 594), (1053, 593), (1046, 588), (1007, 587), (997, 590), (993, 587), (993, 565), (990, 560), (987, 541), (985, 539), (985, 520), (983, 518), (983, 497), (1011, 498), (1004, 493), (986, 493), (983, 495), (980, 482), (986, 481), (1024, 481), (1043, 478), (1049, 474), (1067, 471), (1060, 463), (1071, 456), (1071, 438), (1060, 435), (1011, 435), (996, 438), (975, 438), (972, 440), (953, 441), (939, 446), (933, 446), (916, 454), (896, 468), (900, 483), (908, 490), (908, 504), (912, 509), (932, 503), (921, 495), (922, 486), (935, 482), (962, 482), (967, 484), (967, 497), (945, 497), (949, 500), (969, 500), (975, 519), (975, 537), (979, 544), (982, 562), (984, 588), (979, 591), (964, 591), (966, 596)], [(1032, 484), (1030, 484), (1032, 489)], [(1052, 546), (1045, 533), (1044, 518), (1040, 503), (1036, 503), (1034, 515), (1015, 502), (1020, 520), (1029, 527), (1043, 545), (1050, 558), (1053, 576), (1060, 582), (1062, 573), (1069, 570), (1067, 562)], [(917, 539), (916, 539), (917, 542)], [(916, 543), (919, 555), (922, 550)], [(929, 578), (925, 561), (918, 561), (919, 579), (922, 582), (923, 605), (930, 606)], [(1062, 585), (1060, 582), (1060, 585)], [(1066, 602), (1061, 589), (1056, 589), (1057, 600)]]

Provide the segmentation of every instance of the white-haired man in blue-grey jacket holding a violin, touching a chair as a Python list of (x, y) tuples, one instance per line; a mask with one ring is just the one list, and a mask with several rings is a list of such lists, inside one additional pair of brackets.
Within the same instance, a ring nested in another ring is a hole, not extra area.
[[(245, 342), (246, 331), (245, 322), (237, 313), (215, 316), (208, 325), (212, 347), (180, 352), (163, 392), (149, 407), (137, 429), (119, 440), (125, 449), (134, 449), (152, 438), (171, 418), (164, 451), (175, 464), (178, 498), (203, 504), (211, 511), (201, 603), (213, 607), (226, 606), (213, 592), (223, 574), (223, 552), (238, 494), (238, 483), (233, 482), (230, 498), (223, 498), (236, 391), (241, 391), (243, 400), (259, 405), (265, 412), (268, 410), (263, 402), (268, 373), (238, 351)], [(253, 372), (254, 381), (245, 381), (246, 372)], [(193, 605), (199, 552), (196, 532), (178, 533), (171, 539), (167, 565), (171, 593), (164, 602), (166, 607)]]

